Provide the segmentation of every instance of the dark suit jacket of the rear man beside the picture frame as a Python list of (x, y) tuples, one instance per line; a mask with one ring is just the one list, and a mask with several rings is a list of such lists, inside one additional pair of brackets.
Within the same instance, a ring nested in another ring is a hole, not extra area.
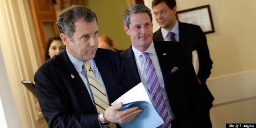
[[(153, 34), (153, 40), (163, 40), (161, 29)], [(212, 60), (210, 58), (207, 40), (200, 26), (179, 22), (179, 42), (183, 44), (190, 60), (192, 60), (192, 51), (196, 50), (199, 57), (199, 71), (197, 77), (201, 80), (203, 93), (206, 98), (207, 106), (210, 109), (214, 97), (207, 88), (205, 82), (211, 74)]]

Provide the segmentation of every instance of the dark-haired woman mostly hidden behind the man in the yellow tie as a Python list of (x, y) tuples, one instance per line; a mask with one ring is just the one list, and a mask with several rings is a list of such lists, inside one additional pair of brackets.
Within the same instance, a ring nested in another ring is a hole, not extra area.
[[(66, 46), (62, 43), (60, 36), (50, 37), (46, 43), (44, 60), (47, 61), (51, 59), (54, 55), (57, 55), (60, 52), (64, 51), (65, 47)], [(38, 101), (36, 102), (35, 106), (38, 111), (41, 111)]]

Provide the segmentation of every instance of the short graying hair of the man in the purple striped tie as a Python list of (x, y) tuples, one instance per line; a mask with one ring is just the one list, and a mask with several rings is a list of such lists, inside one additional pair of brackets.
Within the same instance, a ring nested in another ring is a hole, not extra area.
[(130, 25), (130, 14), (140, 14), (143, 12), (147, 12), (149, 17), (150, 17), (150, 21), (152, 22), (152, 13), (151, 10), (146, 7), (145, 5), (141, 5), (141, 4), (135, 4), (132, 5), (131, 7), (129, 7), (128, 9), (126, 9), (126, 11), (124, 11), (124, 15), (123, 15), (123, 20), (124, 20), (124, 25), (129, 28)]

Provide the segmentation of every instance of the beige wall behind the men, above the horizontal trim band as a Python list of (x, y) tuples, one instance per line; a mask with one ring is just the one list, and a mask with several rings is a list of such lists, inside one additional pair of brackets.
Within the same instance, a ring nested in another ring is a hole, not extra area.
[[(144, 0), (151, 8), (152, 0)], [(177, 10), (210, 4), (214, 33), (206, 34), (210, 56), (214, 62), (211, 78), (256, 70), (256, 1), (247, 0), (176, 0)], [(100, 4), (99, 4), (100, 3)], [(99, 35), (107, 34), (118, 49), (130, 46), (123, 28), (122, 15), (128, 5), (125, 0), (86, 0), (98, 16)], [(159, 29), (153, 21), (154, 31)]]

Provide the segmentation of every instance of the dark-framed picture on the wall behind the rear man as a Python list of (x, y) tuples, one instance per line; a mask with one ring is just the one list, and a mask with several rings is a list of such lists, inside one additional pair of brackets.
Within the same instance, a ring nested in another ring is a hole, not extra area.
[(195, 24), (201, 27), (203, 33), (214, 33), (210, 5), (195, 7), (176, 12), (177, 20), (189, 24)]

